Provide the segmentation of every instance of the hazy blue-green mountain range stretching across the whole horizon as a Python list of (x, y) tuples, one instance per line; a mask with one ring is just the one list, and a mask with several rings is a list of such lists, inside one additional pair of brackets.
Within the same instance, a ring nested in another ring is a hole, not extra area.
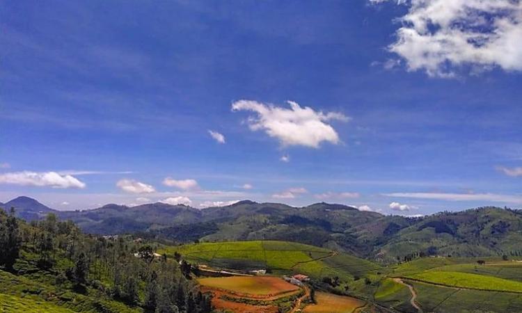
[(139, 233), (177, 242), (297, 241), (385, 263), (413, 255), (522, 255), (522, 211), (498, 207), (444, 211), (418, 218), (324, 202), (291, 207), (249, 200), (207, 209), (157, 202), (57, 211), (22, 196), (2, 207), (15, 207), (17, 216), (26, 220), (54, 213), (95, 234)]

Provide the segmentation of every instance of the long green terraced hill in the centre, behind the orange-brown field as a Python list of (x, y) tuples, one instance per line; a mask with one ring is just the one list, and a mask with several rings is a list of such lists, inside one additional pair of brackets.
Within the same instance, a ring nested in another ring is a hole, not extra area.
[(159, 253), (180, 252), (189, 262), (215, 268), (255, 270), (267, 268), (274, 275), (305, 273), (313, 278), (338, 276), (363, 277), (379, 271), (372, 262), (328, 249), (287, 241), (235, 241), (166, 246)]

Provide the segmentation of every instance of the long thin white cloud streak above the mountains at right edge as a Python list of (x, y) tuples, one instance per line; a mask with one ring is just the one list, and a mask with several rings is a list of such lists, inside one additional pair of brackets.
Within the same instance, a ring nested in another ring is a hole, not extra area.
[(500, 195), (496, 193), (385, 193), (388, 197), (416, 198), (445, 201), (490, 201), (522, 203), (522, 195)]

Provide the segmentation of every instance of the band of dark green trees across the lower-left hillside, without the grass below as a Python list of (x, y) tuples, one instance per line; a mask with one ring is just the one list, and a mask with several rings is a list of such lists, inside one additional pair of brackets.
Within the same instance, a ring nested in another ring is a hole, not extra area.
[[(17, 272), (20, 251), (63, 289), (100, 294), (148, 312), (212, 312), (211, 298), (191, 280), (191, 265), (155, 258), (150, 246), (131, 236), (82, 234), (72, 222), (49, 214), (26, 224), (0, 209), (0, 266)], [(179, 257), (179, 256), (177, 256)]]

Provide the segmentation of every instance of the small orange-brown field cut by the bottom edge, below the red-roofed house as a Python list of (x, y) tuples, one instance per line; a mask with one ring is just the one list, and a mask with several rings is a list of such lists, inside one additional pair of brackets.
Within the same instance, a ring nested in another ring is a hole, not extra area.
[(351, 313), (358, 307), (363, 307), (365, 302), (347, 296), (336, 296), (324, 292), (315, 293), (316, 305), (305, 307), (306, 313)]

